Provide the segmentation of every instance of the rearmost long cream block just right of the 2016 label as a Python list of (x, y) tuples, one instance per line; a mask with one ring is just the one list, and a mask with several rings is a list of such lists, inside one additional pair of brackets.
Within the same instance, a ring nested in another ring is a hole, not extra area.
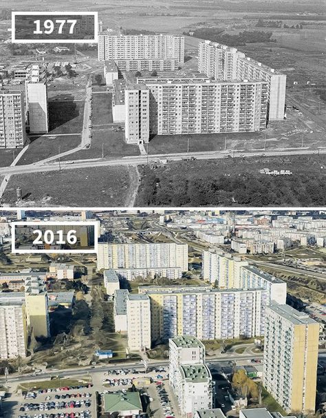
[(188, 245), (175, 242), (133, 244), (98, 243), (97, 268), (166, 269), (188, 271)]

